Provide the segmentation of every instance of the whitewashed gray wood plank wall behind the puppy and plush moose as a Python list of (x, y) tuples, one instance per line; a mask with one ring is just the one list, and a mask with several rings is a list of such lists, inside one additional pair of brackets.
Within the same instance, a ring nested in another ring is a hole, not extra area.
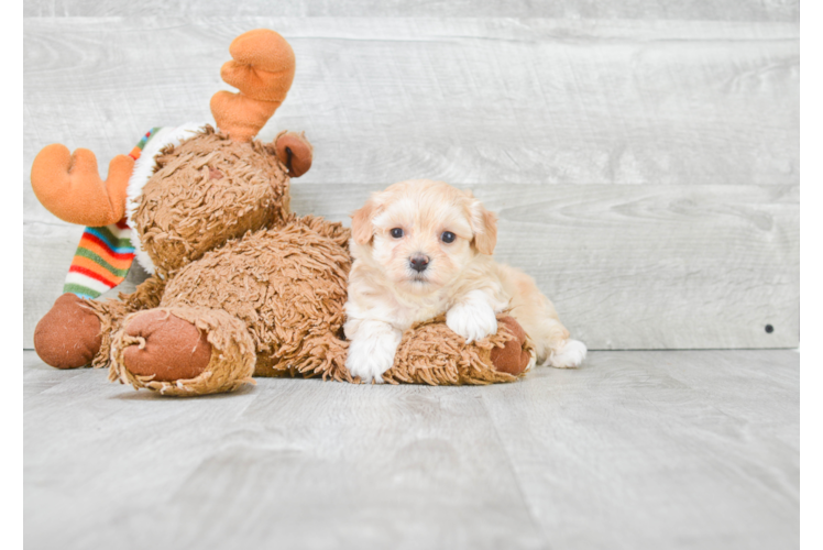
[(87, 147), (105, 173), (152, 127), (210, 121), (229, 43), (260, 26), (297, 53), (261, 134), (305, 130), (316, 146), (297, 212), (348, 221), (373, 190), (443, 179), (500, 212), (498, 258), (592, 349), (798, 343), (797, 2), (75, 0), (23, 14), (23, 349), (81, 233), (33, 197), (36, 153)]

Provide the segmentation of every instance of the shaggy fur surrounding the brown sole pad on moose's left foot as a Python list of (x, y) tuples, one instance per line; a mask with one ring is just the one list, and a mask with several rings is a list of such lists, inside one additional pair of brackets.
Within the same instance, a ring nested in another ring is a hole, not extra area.
[[(140, 316), (172, 315), (194, 324), (206, 334), (211, 345), (211, 360), (206, 370), (198, 376), (175, 382), (161, 382), (154, 375), (140, 376), (131, 373), (125, 366), (124, 354), (130, 346), (145, 345), (146, 341), (128, 333), (128, 327)], [(249, 337), (246, 327), (226, 311), (204, 308), (161, 308), (154, 311), (132, 314), (123, 322), (124, 329), (114, 334), (111, 353), (109, 380), (131, 384), (135, 389), (149, 388), (162, 395), (190, 397), (207, 394), (233, 392), (245, 384), (254, 384), (254, 342)]]

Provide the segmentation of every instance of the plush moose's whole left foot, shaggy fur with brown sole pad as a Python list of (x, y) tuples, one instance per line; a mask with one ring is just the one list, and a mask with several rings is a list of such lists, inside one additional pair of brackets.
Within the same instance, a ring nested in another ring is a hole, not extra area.
[(109, 378), (164, 395), (196, 396), (253, 384), (246, 326), (226, 311), (173, 307), (130, 315), (114, 336)]

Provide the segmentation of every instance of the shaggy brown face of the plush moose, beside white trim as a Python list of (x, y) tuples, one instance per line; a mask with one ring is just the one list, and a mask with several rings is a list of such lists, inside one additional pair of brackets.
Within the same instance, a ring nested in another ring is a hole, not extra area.
[[(133, 221), (161, 273), (289, 215), (288, 176), (260, 142), (237, 143), (207, 128), (164, 151), (157, 164)], [(223, 177), (212, 178), (215, 170)]]

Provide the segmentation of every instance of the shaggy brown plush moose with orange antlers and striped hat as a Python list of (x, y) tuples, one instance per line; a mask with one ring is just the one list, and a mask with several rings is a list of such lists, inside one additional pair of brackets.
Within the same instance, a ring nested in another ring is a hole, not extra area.
[[(286, 97), (294, 53), (266, 30), (243, 34), (230, 51), (222, 77), (240, 92), (212, 99), (219, 131), (154, 131), (112, 161), (105, 183), (88, 151), (52, 145), (35, 160), (41, 202), (91, 227), (67, 294), (35, 330), (45, 363), (107, 366), (112, 381), (179, 396), (230, 392), (253, 376), (358, 382), (344, 366), (342, 334), (350, 231), (289, 210), (289, 178), (311, 165), (303, 135), (254, 140)], [(91, 299), (122, 280), (134, 256), (152, 276), (120, 300)], [(500, 327), (469, 345), (442, 319), (415, 327), (384, 380), (515, 381), (534, 352), (513, 318), (501, 316)]]

